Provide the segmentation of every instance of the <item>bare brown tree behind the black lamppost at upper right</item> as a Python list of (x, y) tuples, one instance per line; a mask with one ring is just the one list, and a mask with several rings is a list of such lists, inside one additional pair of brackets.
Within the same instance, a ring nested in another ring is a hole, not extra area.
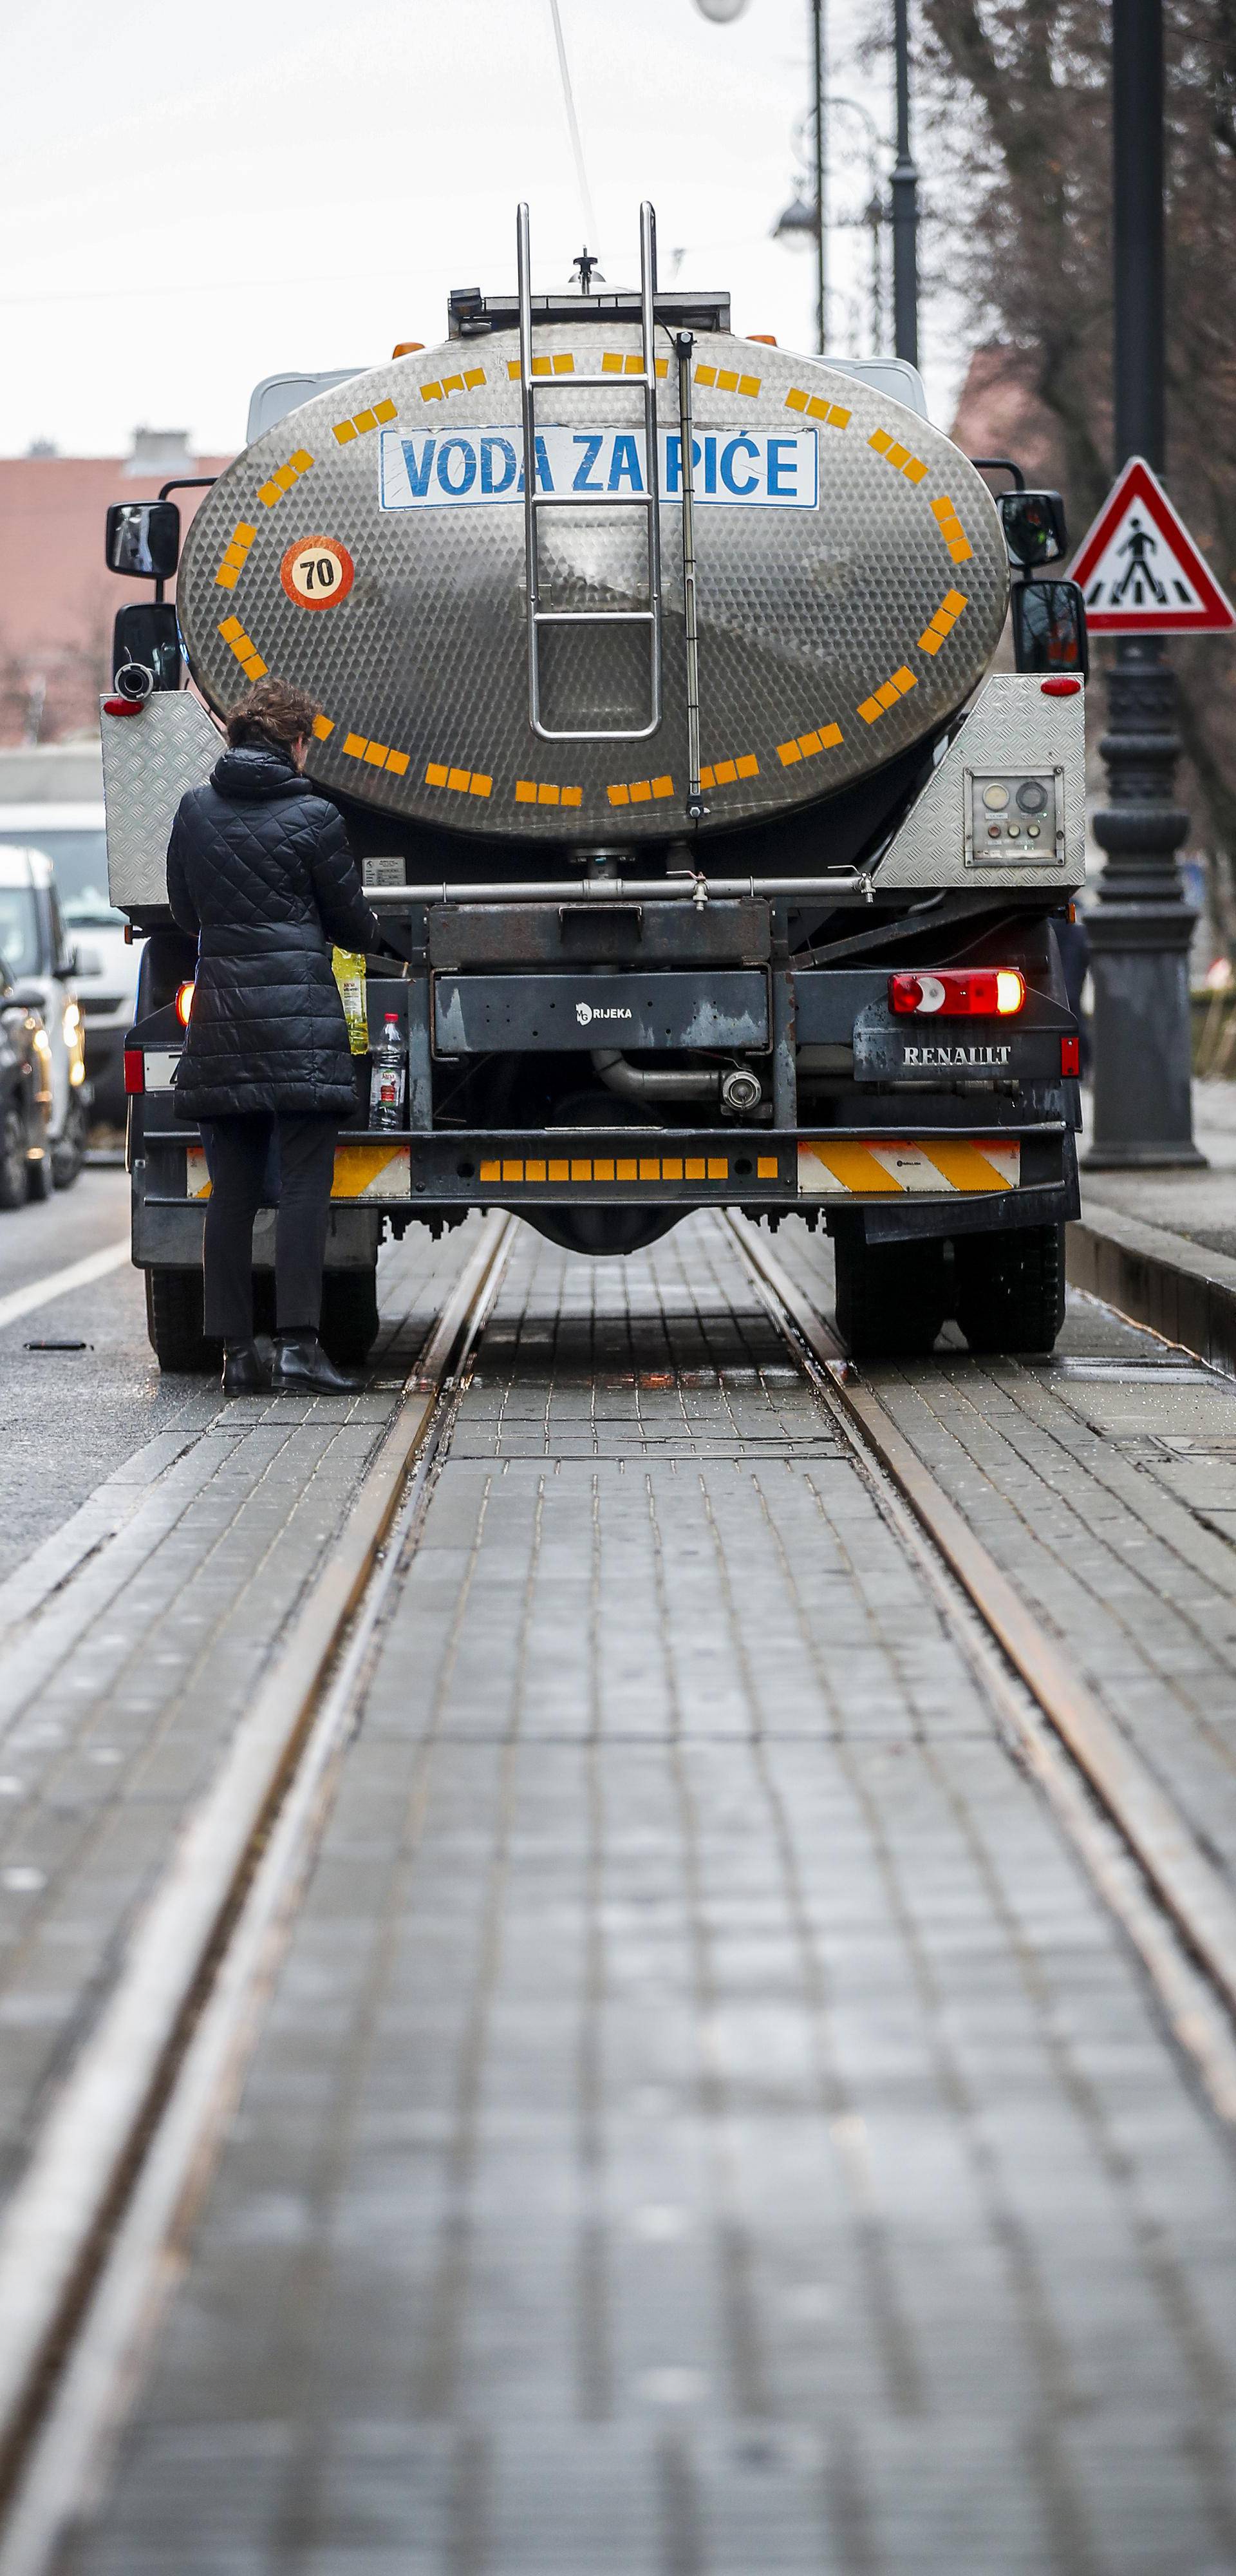
[[(1118, 0), (1115, 0), (1118, 5)], [(1082, 528), (1112, 474), (1112, 0), (922, 0), (937, 227), (976, 335), (1022, 355)], [(1166, 0), (1166, 477), (1236, 585), (1236, 0)], [(937, 240), (940, 260), (940, 240)], [(1172, 647), (1203, 832), (1236, 855), (1236, 670)]]

